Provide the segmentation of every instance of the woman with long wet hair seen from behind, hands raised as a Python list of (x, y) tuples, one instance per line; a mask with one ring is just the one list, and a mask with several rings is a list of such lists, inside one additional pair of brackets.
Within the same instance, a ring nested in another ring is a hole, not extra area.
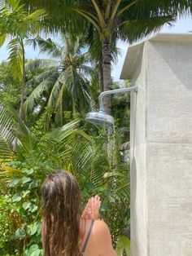
[(80, 191), (72, 174), (65, 170), (48, 174), (41, 196), (41, 240), (46, 256), (116, 256), (107, 224), (96, 219), (100, 198), (89, 199), (80, 215)]

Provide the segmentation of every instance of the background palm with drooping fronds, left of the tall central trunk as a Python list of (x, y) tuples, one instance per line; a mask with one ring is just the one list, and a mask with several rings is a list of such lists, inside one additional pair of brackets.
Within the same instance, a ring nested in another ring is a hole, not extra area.
[[(50, 128), (51, 120), (56, 126), (63, 126), (64, 112), (84, 114), (89, 108), (88, 77), (93, 73), (93, 68), (88, 65), (89, 52), (85, 51), (81, 38), (74, 42), (72, 36), (62, 34), (60, 39), (61, 44), (37, 38), (41, 51), (53, 60), (35, 60), (35, 65), (33, 61), (28, 63), (31, 70), (50, 63), (48, 70), (27, 82), (27, 86), (34, 82), (37, 86), (24, 102), (27, 114), (33, 113), (36, 107), (41, 112), (46, 106), (46, 130)], [(40, 106), (38, 99), (42, 99), (42, 95), (44, 104)]]

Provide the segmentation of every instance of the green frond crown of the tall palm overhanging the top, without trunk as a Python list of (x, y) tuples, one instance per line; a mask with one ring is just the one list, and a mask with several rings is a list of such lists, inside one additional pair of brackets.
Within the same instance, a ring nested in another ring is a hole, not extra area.
[(64, 2), (22, 0), (22, 2), (31, 11), (42, 7), (46, 9), (50, 17), (46, 27), (50, 32), (82, 33), (91, 23), (98, 30), (101, 30), (103, 25), (103, 31), (100, 33), (107, 35), (111, 30), (111, 37), (118, 37), (123, 40), (142, 38), (154, 29), (159, 29), (162, 24), (176, 20), (178, 15), (189, 14), (191, 6), (191, 2), (188, 0), (173, 2), (172, 0), (160, 2), (120, 0), (116, 4), (111, 4), (111, 1), (98, 0), (94, 2), (87, 0)]

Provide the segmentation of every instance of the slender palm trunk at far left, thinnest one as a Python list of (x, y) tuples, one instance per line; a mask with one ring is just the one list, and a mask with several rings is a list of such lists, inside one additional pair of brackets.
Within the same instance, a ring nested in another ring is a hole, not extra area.
[(21, 39), (22, 48), (22, 80), (21, 80), (21, 90), (20, 90), (20, 118), (24, 119), (24, 93), (25, 93), (25, 64), (24, 64), (24, 42)]

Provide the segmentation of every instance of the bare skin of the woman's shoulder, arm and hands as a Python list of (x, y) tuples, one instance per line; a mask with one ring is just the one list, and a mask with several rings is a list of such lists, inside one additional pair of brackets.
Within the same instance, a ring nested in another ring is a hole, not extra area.
[[(81, 241), (80, 251), (85, 243), (86, 236), (89, 232), (91, 219), (94, 219), (94, 226), (89, 236), (84, 256), (116, 256), (116, 252), (112, 247), (111, 234), (107, 224), (103, 220), (98, 219), (98, 212), (100, 209), (100, 197), (91, 197), (85, 205), (80, 219), (80, 231), (84, 234)], [(44, 223), (41, 223), (41, 238), (43, 240)]]

